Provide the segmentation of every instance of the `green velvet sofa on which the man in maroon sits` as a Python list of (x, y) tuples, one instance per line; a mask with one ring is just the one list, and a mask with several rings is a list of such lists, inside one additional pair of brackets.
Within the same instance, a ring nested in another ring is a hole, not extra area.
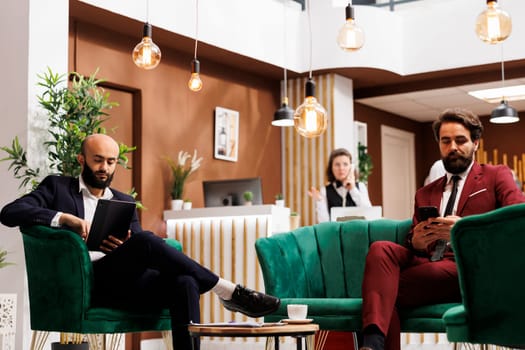
[[(370, 244), (403, 244), (411, 220), (328, 222), (260, 238), (255, 247), (266, 292), (281, 298), (266, 322), (287, 318), (286, 305), (308, 304), (321, 330), (361, 330), (361, 281)], [(458, 304), (399, 310), (403, 332), (445, 332), (443, 314)]]

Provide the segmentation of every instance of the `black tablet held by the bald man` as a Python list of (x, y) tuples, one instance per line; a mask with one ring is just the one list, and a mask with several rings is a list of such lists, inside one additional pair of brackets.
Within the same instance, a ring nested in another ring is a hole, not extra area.
[(100, 244), (109, 235), (125, 238), (135, 208), (135, 202), (99, 199), (86, 241), (89, 250), (100, 250)]

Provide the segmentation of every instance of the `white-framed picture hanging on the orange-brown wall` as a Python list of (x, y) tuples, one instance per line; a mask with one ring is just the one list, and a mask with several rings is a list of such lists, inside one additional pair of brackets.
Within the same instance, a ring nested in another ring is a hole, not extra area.
[(214, 158), (236, 162), (239, 152), (239, 112), (215, 107)]

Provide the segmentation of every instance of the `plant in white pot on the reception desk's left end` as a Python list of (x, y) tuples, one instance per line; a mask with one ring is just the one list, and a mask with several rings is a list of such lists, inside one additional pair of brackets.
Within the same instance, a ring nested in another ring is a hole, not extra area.
[(184, 194), (184, 184), (192, 173), (201, 165), (202, 157), (197, 158), (197, 150), (193, 151), (193, 156), (186, 151), (179, 151), (177, 161), (170, 157), (164, 157), (171, 169), (172, 182), (170, 188), (171, 209), (181, 210), (183, 205), (182, 195)]

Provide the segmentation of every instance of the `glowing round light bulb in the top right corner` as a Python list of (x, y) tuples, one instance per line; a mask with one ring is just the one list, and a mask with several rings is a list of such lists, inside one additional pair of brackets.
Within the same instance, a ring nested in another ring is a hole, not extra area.
[(487, 8), (476, 20), (476, 34), (486, 43), (497, 44), (507, 39), (512, 31), (512, 20), (499, 8), (495, 0), (487, 1)]

